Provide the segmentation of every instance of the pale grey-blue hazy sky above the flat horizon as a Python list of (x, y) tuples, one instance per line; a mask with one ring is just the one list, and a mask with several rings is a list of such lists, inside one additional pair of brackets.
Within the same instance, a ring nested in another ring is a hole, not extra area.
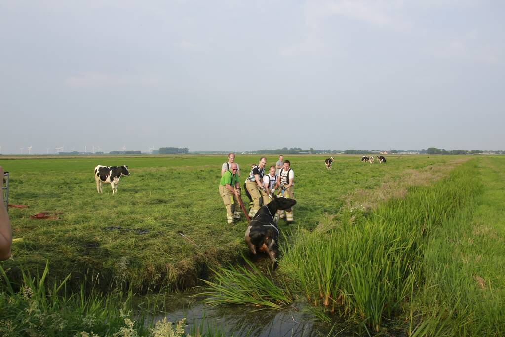
[(505, 2), (0, 2), (1, 153), (505, 149)]

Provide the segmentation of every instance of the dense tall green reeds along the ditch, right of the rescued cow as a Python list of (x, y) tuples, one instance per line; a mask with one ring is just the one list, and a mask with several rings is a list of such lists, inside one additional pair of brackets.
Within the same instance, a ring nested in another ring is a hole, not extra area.
[[(475, 163), (430, 187), (413, 187), (367, 218), (342, 222), (321, 234), (305, 233), (286, 247), (280, 270), (298, 280), (314, 304), (339, 305), (379, 331), (383, 319), (403, 312), (423, 281), (425, 238), (468, 207), (479, 193)], [(295, 289), (292, 289), (295, 291)]]

